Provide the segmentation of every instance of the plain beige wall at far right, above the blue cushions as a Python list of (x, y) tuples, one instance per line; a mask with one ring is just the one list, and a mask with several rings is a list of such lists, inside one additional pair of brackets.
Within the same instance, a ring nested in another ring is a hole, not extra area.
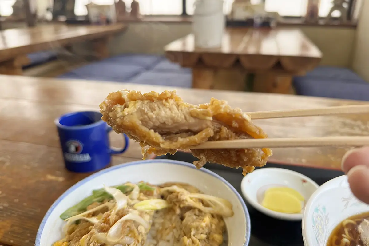
[(364, 1), (359, 25), (356, 31), (354, 60), (352, 67), (369, 82), (369, 2)]

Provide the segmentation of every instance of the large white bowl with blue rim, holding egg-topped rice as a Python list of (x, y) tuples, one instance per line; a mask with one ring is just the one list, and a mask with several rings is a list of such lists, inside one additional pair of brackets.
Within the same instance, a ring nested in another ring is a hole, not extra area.
[(35, 246), (51, 246), (63, 238), (64, 222), (59, 216), (92, 193), (92, 190), (113, 186), (127, 181), (146, 181), (152, 184), (185, 182), (199, 188), (205, 194), (230, 201), (234, 215), (225, 218), (228, 230), (228, 246), (247, 246), (250, 240), (250, 216), (241, 195), (222, 177), (210, 170), (196, 169), (193, 164), (175, 160), (144, 160), (109, 167), (79, 181), (52, 204), (39, 226)]

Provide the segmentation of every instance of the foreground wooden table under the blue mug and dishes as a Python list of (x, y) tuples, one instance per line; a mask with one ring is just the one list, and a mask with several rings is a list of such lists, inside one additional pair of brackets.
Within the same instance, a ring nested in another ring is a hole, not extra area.
[[(315, 108), (366, 102), (330, 100), (282, 94), (179, 89), (152, 85), (41, 79), (0, 75), (0, 245), (32, 246), (42, 217), (70, 186), (89, 173), (64, 169), (54, 119), (77, 110), (99, 110), (108, 93), (121, 89), (142, 92), (176, 89), (186, 102), (205, 103), (211, 97), (227, 100), (243, 111)], [(327, 135), (368, 135), (369, 115), (263, 119), (255, 121), (271, 138)], [(112, 133), (113, 146), (122, 138)], [(273, 149), (271, 162), (339, 169), (346, 149)], [(131, 142), (112, 165), (141, 159)]]

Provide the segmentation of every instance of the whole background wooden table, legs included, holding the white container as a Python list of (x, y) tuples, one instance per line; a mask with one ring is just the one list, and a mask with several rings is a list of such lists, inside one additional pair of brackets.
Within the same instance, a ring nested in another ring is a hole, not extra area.
[(227, 29), (217, 49), (201, 49), (189, 34), (165, 46), (166, 56), (193, 69), (193, 88), (211, 89), (217, 69), (255, 73), (254, 91), (289, 94), (293, 75), (321, 60), (321, 51), (299, 29)]

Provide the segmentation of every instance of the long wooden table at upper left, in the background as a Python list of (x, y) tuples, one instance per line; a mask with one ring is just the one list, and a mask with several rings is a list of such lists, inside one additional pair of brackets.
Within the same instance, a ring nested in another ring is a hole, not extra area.
[(32, 28), (14, 28), (0, 31), (0, 74), (22, 75), (27, 65), (27, 54), (53, 47), (64, 47), (75, 42), (91, 41), (99, 58), (109, 55), (107, 43), (112, 35), (123, 31), (126, 25), (64, 25), (44, 24)]

